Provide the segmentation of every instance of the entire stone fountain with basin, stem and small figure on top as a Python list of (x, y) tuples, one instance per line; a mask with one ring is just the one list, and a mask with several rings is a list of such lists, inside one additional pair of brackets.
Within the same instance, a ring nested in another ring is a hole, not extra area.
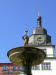
[(9, 50), (7, 56), (12, 63), (24, 67), (25, 75), (32, 75), (31, 67), (41, 64), (46, 58), (46, 54), (43, 50), (28, 45), (28, 31), (25, 32), (26, 35), (22, 37), (24, 46)]

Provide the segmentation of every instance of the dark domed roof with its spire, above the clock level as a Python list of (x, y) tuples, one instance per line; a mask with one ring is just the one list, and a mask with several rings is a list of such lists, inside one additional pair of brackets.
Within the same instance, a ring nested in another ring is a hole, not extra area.
[(33, 30), (33, 34), (47, 34), (47, 30), (42, 27), (41, 20), (42, 20), (41, 16), (38, 16), (37, 18), (38, 27)]

